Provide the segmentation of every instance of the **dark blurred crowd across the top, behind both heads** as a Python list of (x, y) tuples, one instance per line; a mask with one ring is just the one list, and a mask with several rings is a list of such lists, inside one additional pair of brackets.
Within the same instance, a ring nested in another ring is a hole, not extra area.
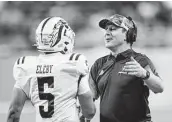
[(0, 53), (35, 50), (35, 29), (48, 16), (60, 16), (76, 33), (76, 48), (102, 46), (98, 22), (112, 14), (131, 16), (138, 27), (139, 47), (172, 46), (172, 2), (1, 1)]

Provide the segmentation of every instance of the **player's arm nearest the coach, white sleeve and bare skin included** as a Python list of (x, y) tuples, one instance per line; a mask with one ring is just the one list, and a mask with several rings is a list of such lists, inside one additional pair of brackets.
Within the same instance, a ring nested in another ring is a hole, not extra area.
[(92, 119), (95, 115), (96, 108), (88, 84), (89, 68), (85, 56), (81, 55), (79, 57), (77, 67), (79, 74), (82, 75), (78, 92), (78, 99), (82, 109), (82, 114), (85, 118)]

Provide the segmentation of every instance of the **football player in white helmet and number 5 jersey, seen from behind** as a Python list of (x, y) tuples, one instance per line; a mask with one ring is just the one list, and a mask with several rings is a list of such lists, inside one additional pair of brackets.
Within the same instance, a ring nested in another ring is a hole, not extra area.
[(27, 99), (35, 107), (36, 122), (79, 122), (77, 97), (83, 116), (94, 116), (87, 60), (73, 52), (74, 37), (60, 17), (46, 18), (38, 25), (35, 46), (41, 53), (20, 57), (14, 64), (16, 83), (7, 122), (19, 122)]

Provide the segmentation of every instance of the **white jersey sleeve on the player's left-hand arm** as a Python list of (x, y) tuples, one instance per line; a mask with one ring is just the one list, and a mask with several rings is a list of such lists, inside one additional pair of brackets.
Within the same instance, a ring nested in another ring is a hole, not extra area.
[(22, 58), (19, 58), (13, 67), (13, 77), (15, 80), (14, 87), (22, 89), (24, 93), (29, 96), (29, 83), (27, 82), (27, 75), (26, 70), (24, 69), (24, 64), (18, 63), (19, 60)]

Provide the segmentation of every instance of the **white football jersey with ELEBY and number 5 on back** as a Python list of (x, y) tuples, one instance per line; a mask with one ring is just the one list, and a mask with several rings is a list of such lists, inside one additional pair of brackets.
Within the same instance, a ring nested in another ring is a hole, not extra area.
[(21, 57), (13, 68), (14, 87), (31, 100), (36, 122), (79, 122), (76, 94), (90, 91), (88, 71), (85, 56), (77, 53)]

